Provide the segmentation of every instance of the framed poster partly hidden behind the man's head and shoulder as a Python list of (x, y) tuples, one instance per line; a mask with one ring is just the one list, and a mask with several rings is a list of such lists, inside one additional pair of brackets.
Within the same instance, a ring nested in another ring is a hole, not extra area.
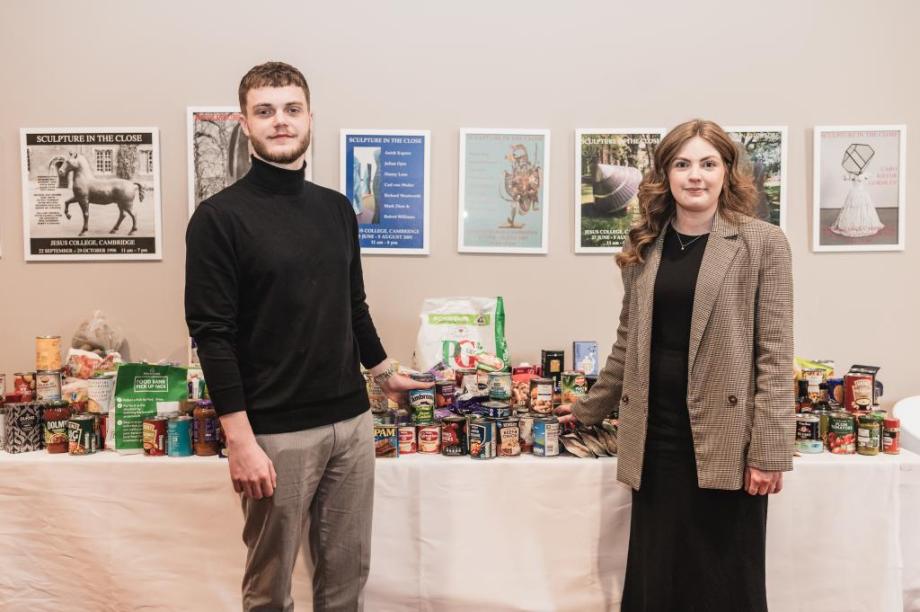
[[(203, 200), (243, 178), (252, 162), (238, 106), (189, 106), (188, 214)], [(313, 180), (313, 146), (307, 148), (304, 178)]]

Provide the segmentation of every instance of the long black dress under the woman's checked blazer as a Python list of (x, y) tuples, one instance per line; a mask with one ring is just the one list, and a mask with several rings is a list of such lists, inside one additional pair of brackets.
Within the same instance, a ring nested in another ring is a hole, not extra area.
[(697, 485), (687, 361), (707, 240), (681, 235), (681, 249), (671, 226), (664, 239), (652, 315), (648, 436), (641, 487), (633, 492), (623, 612), (767, 609), (767, 496)]

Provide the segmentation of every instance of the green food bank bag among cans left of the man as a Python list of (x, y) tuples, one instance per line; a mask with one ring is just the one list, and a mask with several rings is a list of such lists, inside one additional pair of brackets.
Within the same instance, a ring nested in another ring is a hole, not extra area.
[(144, 419), (157, 415), (160, 402), (188, 398), (186, 368), (123, 363), (115, 377), (115, 450), (139, 453), (144, 448)]

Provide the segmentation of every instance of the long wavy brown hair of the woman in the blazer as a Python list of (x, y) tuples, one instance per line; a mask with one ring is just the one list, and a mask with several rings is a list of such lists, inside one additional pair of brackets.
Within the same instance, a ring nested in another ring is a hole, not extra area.
[(719, 194), (719, 213), (738, 223), (753, 215), (757, 188), (750, 169), (741, 163), (739, 151), (718, 124), (705, 119), (681, 123), (661, 139), (655, 160), (639, 185), (639, 221), (629, 230), (629, 242), (616, 257), (621, 268), (645, 261), (648, 246), (655, 242), (677, 206), (668, 184), (668, 170), (677, 153), (699, 136), (719, 152), (725, 164), (725, 182)]

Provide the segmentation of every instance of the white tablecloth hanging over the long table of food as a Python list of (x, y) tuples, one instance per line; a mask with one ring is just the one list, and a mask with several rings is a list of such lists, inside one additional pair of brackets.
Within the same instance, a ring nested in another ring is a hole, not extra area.
[[(920, 457), (795, 468), (770, 609), (920, 610)], [(616, 610), (629, 506), (615, 459), (378, 460), (367, 609)], [(241, 525), (217, 458), (0, 453), (0, 609), (238, 610)]]

